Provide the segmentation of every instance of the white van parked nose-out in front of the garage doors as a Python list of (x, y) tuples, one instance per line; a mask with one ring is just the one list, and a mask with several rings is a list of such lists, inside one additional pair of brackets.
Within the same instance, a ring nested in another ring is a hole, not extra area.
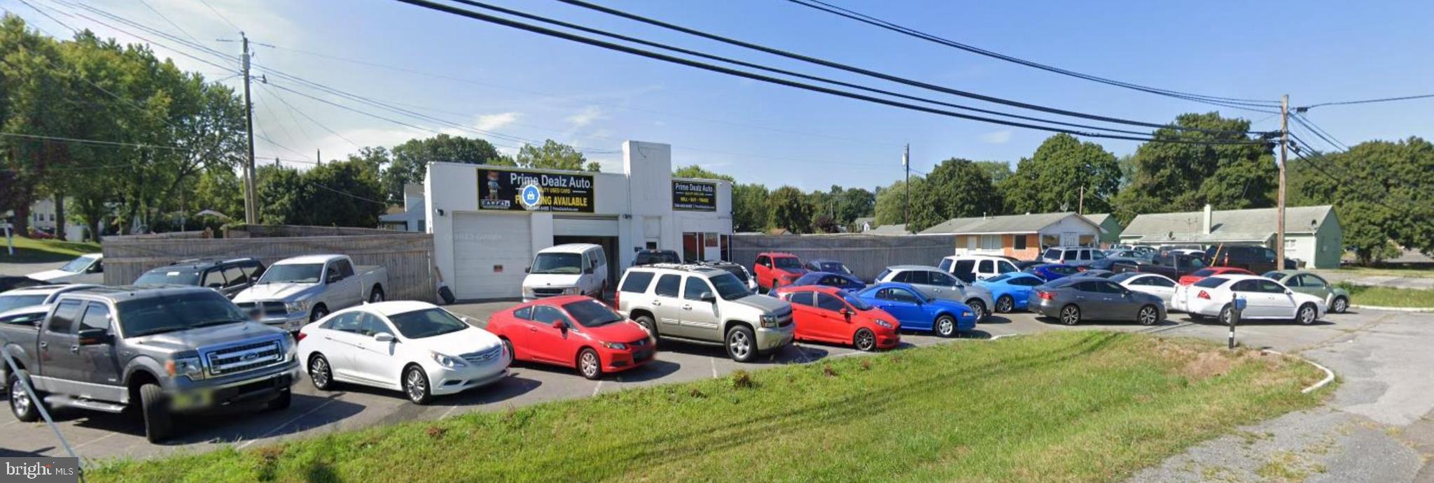
[(608, 255), (602, 245), (566, 244), (538, 251), (523, 277), (523, 301), (556, 295), (602, 298), (608, 288)]

